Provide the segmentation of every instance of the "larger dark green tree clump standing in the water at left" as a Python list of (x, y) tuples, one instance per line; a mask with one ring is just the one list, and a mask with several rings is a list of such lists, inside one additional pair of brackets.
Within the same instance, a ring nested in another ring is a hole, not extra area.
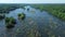
[(13, 17), (5, 17), (5, 27), (12, 28), (16, 24), (16, 20)]

